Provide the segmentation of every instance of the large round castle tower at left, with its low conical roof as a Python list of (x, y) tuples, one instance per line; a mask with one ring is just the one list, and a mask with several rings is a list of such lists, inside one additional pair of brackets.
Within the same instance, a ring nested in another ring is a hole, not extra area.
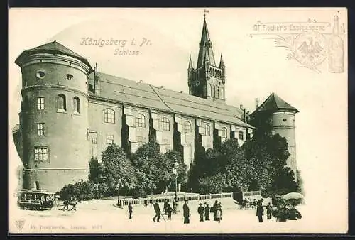
[(89, 62), (56, 41), (15, 62), (22, 72), (23, 187), (56, 192), (86, 180)]

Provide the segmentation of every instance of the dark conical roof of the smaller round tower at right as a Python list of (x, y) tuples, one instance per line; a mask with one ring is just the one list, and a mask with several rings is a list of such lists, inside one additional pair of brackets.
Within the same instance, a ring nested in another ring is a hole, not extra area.
[(284, 111), (294, 111), (295, 113), (298, 112), (298, 110), (285, 102), (283, 99), (278, 97), (277, 94), (274, 92), (261, 104), (251, 115), (254, 115), (258, 112), (264, 112), (264, 111), (271, 111), (275, 112), (278, 110), (284, 110)]

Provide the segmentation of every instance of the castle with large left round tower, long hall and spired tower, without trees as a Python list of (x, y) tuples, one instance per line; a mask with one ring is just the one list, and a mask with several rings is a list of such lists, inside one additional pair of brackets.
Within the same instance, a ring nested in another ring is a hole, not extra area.
[(225, 102), (226, 66), (214, 60), (204, 19), (197, 65), (187, 69), (189, 94), (98, 72), (82, 56), (53, 41), (24, 50), (20, 123), (13, 129), (23, 162), (23, 187), (59, 191), (86, 180), (89, 159), (111, 143), (128, 151), (154, 136), (165, 153), (180, 151), (190, 165), (195, 149), (227, 138), (242, 145), (253, 126), (246, 109)]

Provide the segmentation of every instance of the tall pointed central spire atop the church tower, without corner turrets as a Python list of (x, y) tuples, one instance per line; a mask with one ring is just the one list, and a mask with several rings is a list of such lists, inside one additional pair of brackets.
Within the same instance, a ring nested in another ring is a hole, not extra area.
[(202, 67), (207, 60), (209, 61), (209, 65), (216, 67), (216, 62), (214, 61), (214, 54), (212, 50), (212, 42), (211, 39), (209, 38), (206, 16), (204, 14), (200, 50), (197, 58), (196, 68)]

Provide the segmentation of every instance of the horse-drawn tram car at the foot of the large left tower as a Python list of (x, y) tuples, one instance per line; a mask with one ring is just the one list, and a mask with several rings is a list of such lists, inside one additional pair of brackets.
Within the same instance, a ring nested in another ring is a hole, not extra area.
[(53, 207), (55, 194), (47, 190), (20, 190), (18, 195), (18, 207), (21, 209), (50, 209)]

